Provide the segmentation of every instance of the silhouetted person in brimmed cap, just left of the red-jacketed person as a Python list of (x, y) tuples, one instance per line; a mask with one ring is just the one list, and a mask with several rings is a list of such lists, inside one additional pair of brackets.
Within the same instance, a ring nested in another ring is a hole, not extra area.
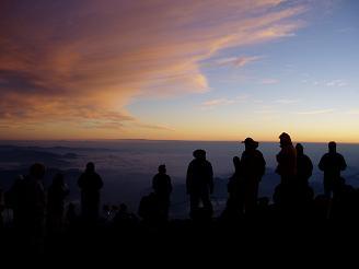
[(258, 186), (266, 171), (266, 161), (260, 151), (257, 150), (258, 142), (246, 138), (243, 143), (245, 150), (242, 153), (241, 173), (244, 187), (244, 211), (253, 212), (257, 204)]

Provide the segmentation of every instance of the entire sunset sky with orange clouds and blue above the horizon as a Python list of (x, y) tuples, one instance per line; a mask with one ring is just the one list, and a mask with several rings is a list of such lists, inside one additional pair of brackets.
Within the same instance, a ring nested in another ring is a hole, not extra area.
[(0, 1), (0, 139), (359, 142), (359, 1)]

